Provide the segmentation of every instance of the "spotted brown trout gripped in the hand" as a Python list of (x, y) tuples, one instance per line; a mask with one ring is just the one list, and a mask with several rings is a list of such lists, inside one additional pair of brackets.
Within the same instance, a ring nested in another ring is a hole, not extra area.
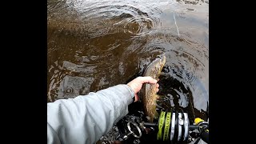
[[(143, 76), (150, 76), (158, 80), (158, 77), (162, 71), (162, 67), (166, 63), (166, 56), (164, 54), (158, 55), (158, 58), (154, 59), (153, 62), (146, 67)], [(153, 122), (154, 118), (158, 117), (156, 111), (156, 100), (158, 95), (156, 94), (156, 84), (145, 83), (142, 86), (142, 103), (144, 113), (146, 114), (149, 122)]]

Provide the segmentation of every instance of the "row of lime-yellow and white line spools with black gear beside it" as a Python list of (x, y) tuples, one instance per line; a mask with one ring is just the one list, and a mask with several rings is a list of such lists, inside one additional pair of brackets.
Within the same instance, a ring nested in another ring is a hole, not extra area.
[(209, 125), (201, 118), (195, 118), (190, 125), (187, 113), (161, 111), (158, 118), (158, 141), (189, 142), (192, 138), (202, 138), (209, 143)]

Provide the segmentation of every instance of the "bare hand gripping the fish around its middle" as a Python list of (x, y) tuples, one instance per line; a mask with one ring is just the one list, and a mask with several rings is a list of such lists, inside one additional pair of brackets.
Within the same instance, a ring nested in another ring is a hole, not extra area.
[(138, 91), (142, 89), (142, 84), (143, 83), (152, 83), (152, 84), (157, 84), (157, 92), (158, 92), (158, 87), (159, 87), (159, 84), (157, 83), (158, 80), (154, 79), (154, 78), (151, 78), (151, 77), (137, 77), (137, 78), (134, 78), (134, 80), (130, 81), (129, 83), (127, 83), (128, 86), (130, 86), (130, 88), (132, 90), (134, 90), (134, 94), (135, 94), (135, 101), (134, 102), (137, 102), (138, 101)]

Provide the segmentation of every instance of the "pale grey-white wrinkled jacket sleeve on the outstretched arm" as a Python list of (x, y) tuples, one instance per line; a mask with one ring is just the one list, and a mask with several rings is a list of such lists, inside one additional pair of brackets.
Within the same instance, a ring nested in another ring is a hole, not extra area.
[(118, 85), (47, 103), (47, 143), (91, 144), (128, 114), (134, 91)]

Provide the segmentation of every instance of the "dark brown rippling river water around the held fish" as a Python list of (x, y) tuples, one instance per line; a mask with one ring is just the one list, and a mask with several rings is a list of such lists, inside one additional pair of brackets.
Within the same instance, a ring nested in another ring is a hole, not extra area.
[(48, 0), (48, 102), (126, 83), (166, 53), (159, 93), (207, 121), (209, 1)]

